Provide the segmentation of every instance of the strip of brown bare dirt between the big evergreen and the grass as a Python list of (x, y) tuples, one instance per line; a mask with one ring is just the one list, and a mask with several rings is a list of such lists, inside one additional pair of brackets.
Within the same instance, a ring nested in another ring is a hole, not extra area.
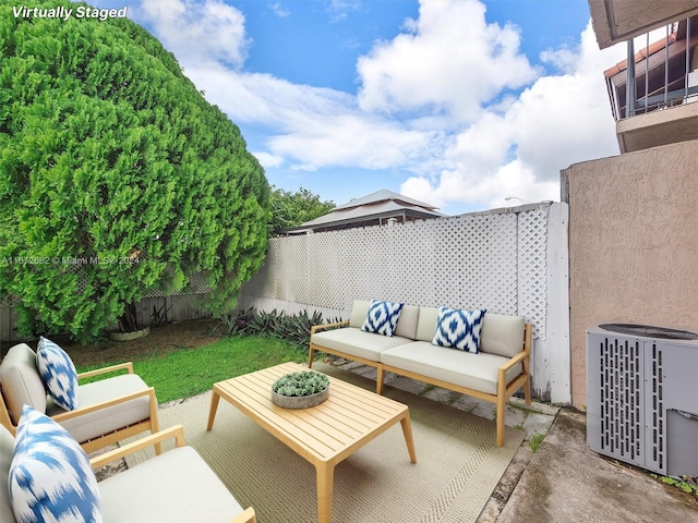
[[(71, 343), (68, 338), (55, 337), (52, 341), (64, 349), (75, 366), (100, 365), (106, 362), (119, 363), (140, 360), (146, 355), (159, 354), (174, 349), (194, 349), (226, 336), (225, 325), (214, 319), (177, 321), (151, 327), (151, 335), (137, 340), (100, 340), (94, 343)], [(35, 342), (28, 342), (35, 346)]]

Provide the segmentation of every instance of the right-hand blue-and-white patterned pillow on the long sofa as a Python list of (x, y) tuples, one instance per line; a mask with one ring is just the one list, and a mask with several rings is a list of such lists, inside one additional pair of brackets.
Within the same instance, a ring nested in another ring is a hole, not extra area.
[(440, 307), (436, 332), (432, 343), (441, 346), (454, 346), (466, 352), (480, 352), (480, 332), (486, 309), (460, 311)]

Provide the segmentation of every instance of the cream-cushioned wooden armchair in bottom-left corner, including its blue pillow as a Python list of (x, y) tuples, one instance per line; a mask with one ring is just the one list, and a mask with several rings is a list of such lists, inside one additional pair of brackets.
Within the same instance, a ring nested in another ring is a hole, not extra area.
[[(173, 449), (97, 482), (94, 471), (171, 438)], [(0, 426), (0, 521), (255, 523), (256, 518), (185, 445), (181, 425), (89, 460), (65, 429), (27, 408), (16, 438)]]

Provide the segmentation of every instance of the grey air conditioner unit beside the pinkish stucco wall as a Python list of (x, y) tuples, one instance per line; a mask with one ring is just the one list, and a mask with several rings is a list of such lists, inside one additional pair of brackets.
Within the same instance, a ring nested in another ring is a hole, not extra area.
[(587, 443), (669, 476), (698, 476), (698, 333), (628, 324), (587, 330)]

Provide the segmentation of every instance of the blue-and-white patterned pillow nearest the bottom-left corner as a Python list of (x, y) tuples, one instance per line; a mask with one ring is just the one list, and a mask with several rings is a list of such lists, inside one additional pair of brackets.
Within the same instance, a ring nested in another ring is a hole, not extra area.
[(10, 464), (10, 503), (20, 523), (101, 523), (89, 459), (53, 419), (24, 405)]

